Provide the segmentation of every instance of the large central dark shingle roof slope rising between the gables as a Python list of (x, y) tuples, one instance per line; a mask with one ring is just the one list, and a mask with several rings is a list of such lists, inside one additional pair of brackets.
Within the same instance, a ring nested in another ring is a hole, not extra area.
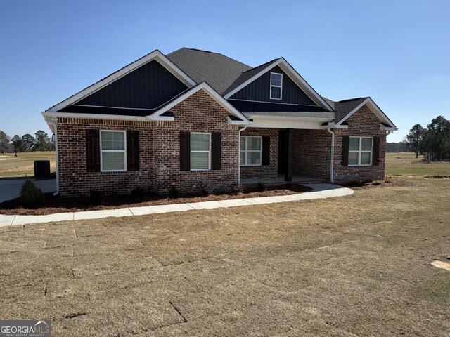
[(181, 48), (166, 56), (195, 82), (205, 81), (221, 95), (243, 72), (252, 69), (225, 55), (198, 49)]

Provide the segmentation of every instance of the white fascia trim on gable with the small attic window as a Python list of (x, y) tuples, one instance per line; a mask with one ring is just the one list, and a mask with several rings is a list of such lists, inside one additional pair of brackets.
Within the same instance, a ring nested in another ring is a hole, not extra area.
[[(250, 77), (247, 81), (245, 81), (243, 84), (240, 84), (240, 86), (237, 86), (232, 91), (227, 93), (224, 98), (230, 98), (232, 95), (240, 91), (240, 89), (244, 88), (245, 86), (248, 86), (248, 84), (252, 83), (252, 81), (255, 81), (255, 79), (258, 79), (262, 75), (264, 75), (266, 72), (269, 72), (269, 70), (273, 69), (277, 65), (281, 66), (281, 69), (285, 71), (285, 73), (292, 79), (297, 86), (299, 86), (305, 93), (311, 98), (311, 100), (314, 100), (314, 102), (318, 103), (319, 105), (323, 105), (328, 109), (328, 111), (333, 111), (333, 109), (326, 103), (323, 98), (321, 98), (321, 95), (317, 93), (309, 84), (307, 81), (303, 79), (303, 77), (300, 76), (300, 74), (288, 63), (288, 61), (285, 60), (285, 58), (278, 58), (278, 60), (271, 65), (268, 65), (263, 70), (255, 74), (253, 77)], [(311, 95), (308, 94), (308, 91)], [(312, 97), (311, 97), (312, 96)]]

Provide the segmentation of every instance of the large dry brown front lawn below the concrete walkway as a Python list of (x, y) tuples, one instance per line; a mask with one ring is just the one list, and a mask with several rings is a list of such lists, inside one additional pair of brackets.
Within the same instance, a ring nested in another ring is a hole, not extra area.
[(450, 255), (450, 179), (399, 178), (412, 185), (0, 228), (0, 318), (51, 318), (52, 336), (449, 336), (450, 272), (430, 263)]

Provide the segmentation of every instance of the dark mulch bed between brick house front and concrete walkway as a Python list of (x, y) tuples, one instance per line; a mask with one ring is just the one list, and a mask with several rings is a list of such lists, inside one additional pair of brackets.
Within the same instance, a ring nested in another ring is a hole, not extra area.
[(49, 193), (37, 209), (26, 209), (20, 203), (20, 199), (4, 201), (0, 204), (0, 213), (8, 215), (41, 216), (53, 213), (99, 211), (103, 209), (121, 209), (124, 207), (155, 206), (169, 204), (185, 204), (200, 201), (219, 201), (228, 199), (243, 199), (256, 197), (273, 197), (277, 195), (290, 195), (311, 191), (311, 187), (293, 184), (290, 189), (285, 185), (270, 186), (264, 192), (258, 192), (257, 187), (246, 189), (239, 194), (212, 194), (206, 197), (199, 195), (187, 195), (174, 199), (162, 197), (158, 194), (144, 194), (142, 199), (131, 199), (130, 195), (105, 196), (100, 202), (94, 202), (89, 197), (59, 198)]

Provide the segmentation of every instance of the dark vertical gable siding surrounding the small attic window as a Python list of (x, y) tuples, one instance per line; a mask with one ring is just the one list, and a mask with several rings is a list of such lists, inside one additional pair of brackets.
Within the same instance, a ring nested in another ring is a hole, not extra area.
[[(283, 92), (281, 100), (271, 100), (270, 95), (270, 73), (277, 72), (283, 74)], [(262, 102), (274, 102), (274, 103), (292, 103), (292, 104), (307, 104), (316, 105), (306, 93), (300, 89), (297, 84), (294, 83), (288, 75), (276, 66), (266, 74), (262, 75), (255, 81), (252, 81), (245, 88), (240, 89), (237, 93), (232, 95), (229, 99), (235, 100), (258, 100)]]

